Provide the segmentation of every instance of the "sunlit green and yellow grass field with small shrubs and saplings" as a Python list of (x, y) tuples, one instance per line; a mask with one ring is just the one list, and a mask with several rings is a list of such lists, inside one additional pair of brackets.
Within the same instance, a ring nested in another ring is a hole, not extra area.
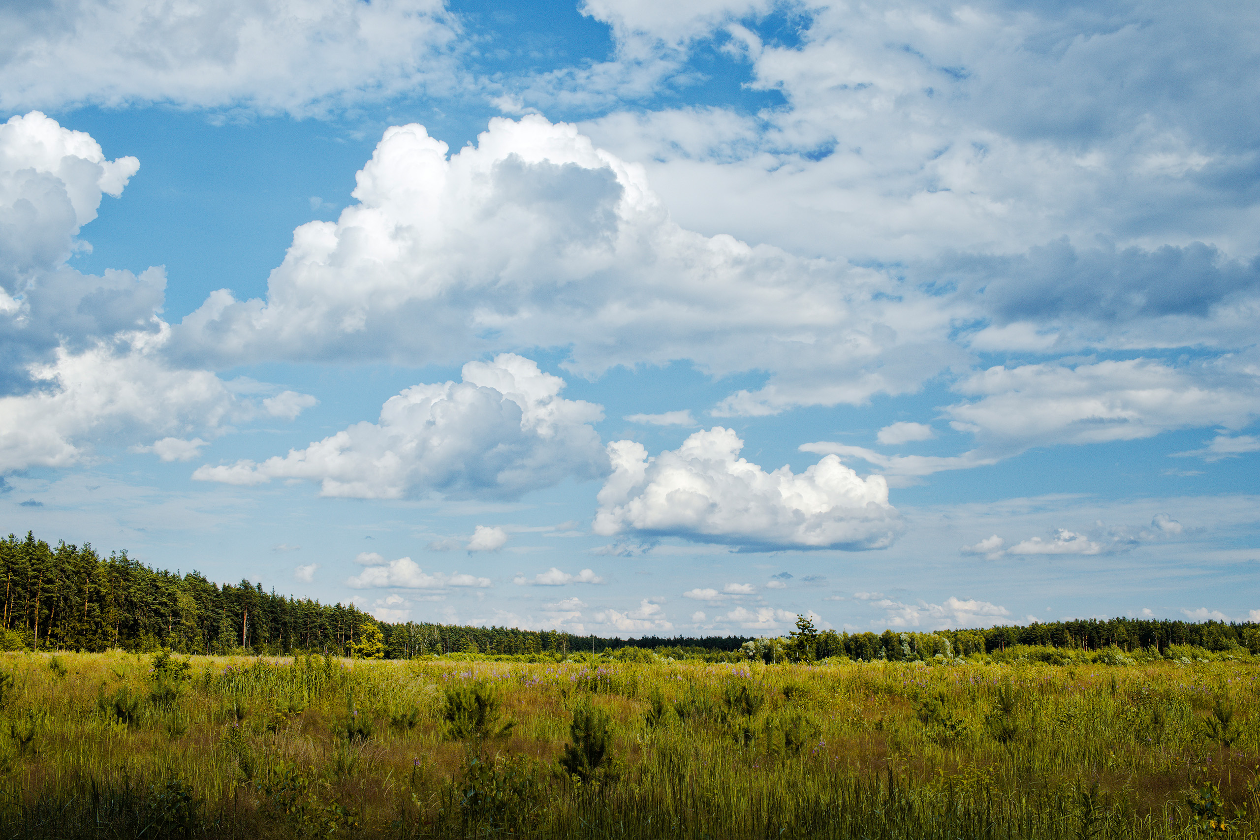
[(1255, 837), (1257, 676), (5, 654), (0, 834)]

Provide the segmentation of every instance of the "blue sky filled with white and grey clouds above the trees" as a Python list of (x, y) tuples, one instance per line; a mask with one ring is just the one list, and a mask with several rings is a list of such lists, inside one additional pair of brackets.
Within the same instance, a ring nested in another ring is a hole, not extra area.
[(1260, 621), (1260, 14), (0, 8), (5, 533), (580, 635)]

